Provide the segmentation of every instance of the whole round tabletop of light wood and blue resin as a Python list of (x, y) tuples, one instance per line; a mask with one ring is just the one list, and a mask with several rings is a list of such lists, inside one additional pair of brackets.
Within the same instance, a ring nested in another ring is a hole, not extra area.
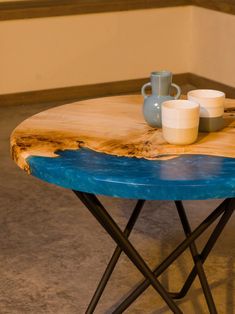
[[(15, 162), (66, 188), (144, 199), (235, 196), (235, 114), (193, 145), (165, 142), (139, 95), (90, 99), (46, 110), (12, 133)], [(235, 107), (227, 100), (226, 108)], [(229, 111), (227, 109), (227, 111)]]

